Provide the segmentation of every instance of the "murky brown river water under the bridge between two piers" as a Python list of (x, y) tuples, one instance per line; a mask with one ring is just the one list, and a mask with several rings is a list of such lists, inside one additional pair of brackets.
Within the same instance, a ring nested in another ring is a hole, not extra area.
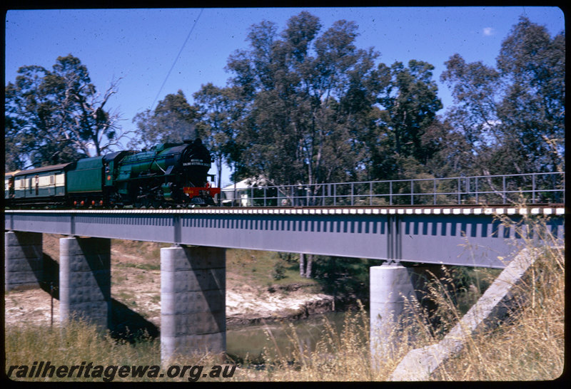
[[(299, 343), (305, 350), (314, 351), (315, 344), (327, 333), (326, 321), (337, 333), (341, 333), (345, 320), (354, 318), (355, 315), (361, 317), (360, 313), (355, 312), (328, 312), (283, 323), (271, 322), (266, 325), (230, 328), (226, 330), (226, 350), (233, 356), (250, 361), (260, 361), (264, 349), (266, 353), (275, 356), (276, 346), (283, 354), (287, 353), (288, 348), (299, 347)], [(365, 316), (368, 318), (368, 313), (365, 313)], [(292, 323), (298, 340), (292, 341), (288, 323)]]

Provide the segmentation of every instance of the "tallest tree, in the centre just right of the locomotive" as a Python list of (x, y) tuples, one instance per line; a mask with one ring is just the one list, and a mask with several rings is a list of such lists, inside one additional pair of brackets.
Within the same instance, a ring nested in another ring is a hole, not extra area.
[[(246, 174), (278, 185), (346, 180), (357, 167), (344, 111), (359, 78), (373, 71), (373, 51), (354, 45), (357, 27), (338, 21), (322, 35), (315, 16), (251, 27), (249, 51), (228, 60), (231, 85), (242, 93), (240, 128)], [(345, 99), (345, 103), (340, 103)]]

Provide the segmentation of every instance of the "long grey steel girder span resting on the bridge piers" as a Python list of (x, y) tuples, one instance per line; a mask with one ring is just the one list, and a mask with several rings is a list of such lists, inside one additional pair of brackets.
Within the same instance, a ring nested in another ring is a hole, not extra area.
[[(501, 269), (525, 242), (545, 244), (537, 232), (517, 227), (525, 214), (547, 215), (547, 232), (562, 244), (564, 213), (562, 207), (348, 207), (6, 210), (4, 215), (5, 229), (12, 231)], [(514, 224), (503, 224), (497, 214)]]

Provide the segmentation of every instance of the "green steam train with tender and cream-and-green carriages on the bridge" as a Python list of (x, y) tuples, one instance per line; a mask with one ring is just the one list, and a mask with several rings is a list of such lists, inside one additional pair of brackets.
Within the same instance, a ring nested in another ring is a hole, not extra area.
[(5, 175), (7, 207), (193, 207), (216, 205), (212, 157), (200, 138), (119, 151)]

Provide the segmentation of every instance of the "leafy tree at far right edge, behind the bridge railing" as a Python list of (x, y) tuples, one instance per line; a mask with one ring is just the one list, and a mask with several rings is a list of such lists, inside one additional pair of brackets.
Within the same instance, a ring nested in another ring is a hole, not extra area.
[(446, 62), (453, 90), (449, 123), (474, 155), (477, 174), (562, 169), (565, 156), (565, 33), (522, 17), (502, 42), (496, 68)]

